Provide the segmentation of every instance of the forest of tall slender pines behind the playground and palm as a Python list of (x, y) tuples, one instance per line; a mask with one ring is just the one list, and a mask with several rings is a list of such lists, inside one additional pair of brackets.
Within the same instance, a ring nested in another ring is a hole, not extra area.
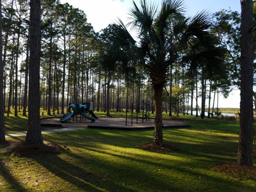
[[(27, 115), (29, 9), (29, 2), (22, 0), (7, 0), (2, 5), (4, 102), (7, 115), (11, 111), (15, 116), (18, 116), (18, 111)], [(207, 15), (206, 12), (199, 14), (201, 19)], [(219, 63), (221, 71), (215, 70), (213, 75), (207, 66), (193, 66), (193, 59), (182, 57), (185, 54), (192, 57), (195, 47), (175, 51), (176, 59), (167, 68), (162, 96), (162, 110), (168, 111), (170, 116), (172, 113), (190, 114), (192, 110), (199, 110), (199, 106), (203, 114), (205, 110), (213, 114), (218, 108), (219, 94), (227, 97), (231, 90), (240, 89), (241, 14), (220, 10), (206, 18), (209, 33), (215, 39), (214, 46), (221, 48), (223, 53), (219, 55), (222, 59)], [(173, 25), (174, 21), (193, 22), (193, 19), (185, 17), (174, 17), (172, 20)], [(109, 58), (106, 59), (106, 50), (117, 29), (118, 24), (111, 24), (95, 33), (91, 23), (86, 22), (86, 13), (82, 10), (55, 0), (42, 1), (42, 110), (47, 111), (48, 115), (65, 114), (70, 102), (93, 102), (96, 111), (131, 110), (134, 103), (140, 111), (143, 101), (147, 101), (154, 113), (150, 74), (135, 63), (138, 58), (126, 58), (129, 60), (127, 66), (115, 63), (111, 72), (106, 68), (110, 62)], [(178, 35), (172, 39), (175, 46), (180, 41)], [(210, 54), (207, 57), (212, 59)], [(201, 98), (201, 103), (197, 102), (198, 98)], [(193, 103), (194, 99), (196, 103)], [(209, 102), (205, 103), (206, 100)]]

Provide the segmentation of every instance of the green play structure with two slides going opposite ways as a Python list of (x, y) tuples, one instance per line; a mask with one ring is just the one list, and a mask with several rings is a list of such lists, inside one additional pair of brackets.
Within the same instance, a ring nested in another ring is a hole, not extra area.
[(99, 118), (93, 112), (93, 103), (92, 102), (69, 103), (68, 113), (62, 119), (60, 119), (60, 121), (68, 122), (70, 120), (70, 118), (75, 117), (79, 114), (82, 117), (89, 119), (91, 122), (95, 122), (96, 119)]

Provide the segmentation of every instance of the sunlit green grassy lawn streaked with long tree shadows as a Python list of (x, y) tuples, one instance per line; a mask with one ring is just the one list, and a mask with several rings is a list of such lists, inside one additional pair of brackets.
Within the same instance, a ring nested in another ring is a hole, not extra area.
[[(10, 118), (8, 131), (25, 129), (26, 119)], [(255, 191), (256, 177), (230, 168), (236, 162), (239, 124), (190, 115), (186, 121), (189, 129), (163, 132), (165, 143), (176, 150), (142, 149), (152, 142), (153, 130), (44, 134), (44, 142), (61, 150), (0, 153), (0, 191)], [(2, 143), (0, 149), (9, 145)], [(227, 166), (217, 169), (220, 163)]]

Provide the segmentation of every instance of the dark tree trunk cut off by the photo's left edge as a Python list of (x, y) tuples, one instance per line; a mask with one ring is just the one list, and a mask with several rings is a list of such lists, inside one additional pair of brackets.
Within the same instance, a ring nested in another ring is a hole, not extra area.
[(0, 141), (5, 140), (4, 129), (4, 63), (3, 63), (3, 36), (2, 36), (2, 0), (0, 0)]

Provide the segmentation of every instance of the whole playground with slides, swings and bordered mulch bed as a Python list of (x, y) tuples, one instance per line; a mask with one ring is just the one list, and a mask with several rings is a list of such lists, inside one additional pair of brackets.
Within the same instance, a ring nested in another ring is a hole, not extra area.
[[(136, 104), (134, 104), (136, 105)], [(133, 106), (133, 105), (132, 105)], [(146, 113), (144, 113), (144, 106)], [(133, 111), (133, 109), (132, 109)], [(140, 115), (141, 116), (141, 115)], [(41, 120), (44, 127), (87, 127), (99, 129), (122, 129), (122, 130), (135, 130), (135, 129), (154, 129), (154, 119), (149, 118), (149, 103), (143, 101), (142, 117), (135, 113), (132, 117), (98, 117), (93, 111), (92, 102), (83, 103), (69, 103), (68, 113), (62, 118), (46, 118)], [(189, 127), (189, 124), (182, 120), (163, 119), (165, 128), (170, 127)]]

